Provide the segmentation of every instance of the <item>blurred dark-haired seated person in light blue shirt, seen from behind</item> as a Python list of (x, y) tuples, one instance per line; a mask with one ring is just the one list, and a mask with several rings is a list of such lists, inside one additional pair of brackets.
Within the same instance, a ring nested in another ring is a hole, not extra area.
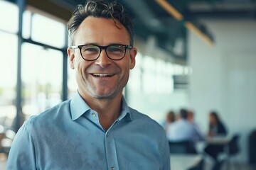
[(196, 142), (198, 140), (204, 140), (204, 136), (198, 128), (192, 123), (188, 122), (188, 111), (181, 109), (180, 119), (171, 123), (167, 130), (166, 136), (171, 142), (191, 141)]

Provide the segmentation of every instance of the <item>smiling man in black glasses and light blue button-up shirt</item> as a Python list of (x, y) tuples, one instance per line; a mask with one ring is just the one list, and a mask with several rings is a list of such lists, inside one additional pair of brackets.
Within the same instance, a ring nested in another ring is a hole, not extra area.
[(116, 2), (78, 6), (68, 22), (78, 93), (23, 124), (7, 169), (170, 169), (163, 128), (122, 96), (137, 55), (124, 11)]

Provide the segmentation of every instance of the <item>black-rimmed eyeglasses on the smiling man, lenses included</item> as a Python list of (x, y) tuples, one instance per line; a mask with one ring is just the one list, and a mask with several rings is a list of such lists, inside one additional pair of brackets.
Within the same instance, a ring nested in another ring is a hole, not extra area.
[(100, 46), (100, 45), (78, 45), (78, 46), (71, 46), (71, 48), (80, 49), (80, 54), (82, 58), (86, 61), (93, 61), (97, 60), (100, 57), (100, 52), (102, 49), (105, 49), (107, 57), (111, 60), (122, 60), (124, 57), (127, 48), (132, 49), (131, 45), (107, 45), (107, 46)]

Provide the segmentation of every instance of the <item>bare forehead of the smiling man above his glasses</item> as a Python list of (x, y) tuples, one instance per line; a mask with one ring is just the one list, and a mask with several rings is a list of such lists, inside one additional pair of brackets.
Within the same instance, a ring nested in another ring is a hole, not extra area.
[(74, 35), (77, 45), (95, 43), (98, 45), (109, 45), (112, 43), (129, 45), (129, 34), (126, 28), (112, 18), (95, 18), (88, 16), (78, 27)]

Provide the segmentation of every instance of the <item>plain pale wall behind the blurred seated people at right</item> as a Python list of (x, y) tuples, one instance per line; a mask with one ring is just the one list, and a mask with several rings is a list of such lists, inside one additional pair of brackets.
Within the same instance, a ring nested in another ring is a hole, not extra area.
[(203, 22), (215, 46), (188, 34), (191, 107), (204, 131), (209, 111), (218, 111), (230, 134), (240, 133), (239, 160), (247, 162), (248, 135), (256, 129), (256, 21)]

